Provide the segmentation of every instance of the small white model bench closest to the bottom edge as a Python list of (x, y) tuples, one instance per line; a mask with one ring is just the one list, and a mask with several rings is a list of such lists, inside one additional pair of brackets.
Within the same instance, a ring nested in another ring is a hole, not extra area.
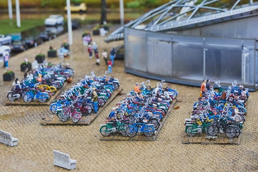
[(54, 165), (68, 170), (76, 168), (76, 160), (70, 159), (69, 154), (54, 150)]

